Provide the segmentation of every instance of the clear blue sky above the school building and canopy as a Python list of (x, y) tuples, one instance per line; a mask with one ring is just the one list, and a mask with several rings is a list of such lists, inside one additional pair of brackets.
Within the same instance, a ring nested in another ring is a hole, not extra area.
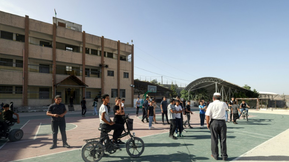
[(133, 40), (134, 78), (161, 82), (165, 75), (164, 84), (184, 87), (216, 77), (287, 95), (288, 6), (286, 0), (0, 1), (4, 12), (52, 23), (55, 8), (57, 18), (86, 33)]

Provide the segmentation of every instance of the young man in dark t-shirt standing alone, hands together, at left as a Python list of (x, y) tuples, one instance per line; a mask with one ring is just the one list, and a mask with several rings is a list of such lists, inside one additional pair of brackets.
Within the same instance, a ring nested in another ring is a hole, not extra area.
[(65, 123), (65, 114), (67, 112), (65, 105), (61, 103), (62, 97), (60, 95), (55, 96), (55, 103), (51, 104), (46, 112), (46, 115), (51, 116), (51, 129), (52, 129), (52, 141), (53, 145), (50, 149), (57, 147), (57, 133), (58, 127), (61, 133), (63, 147), (69, 148), (70, 146), (67, 143), (66, 138), (66, 123)]

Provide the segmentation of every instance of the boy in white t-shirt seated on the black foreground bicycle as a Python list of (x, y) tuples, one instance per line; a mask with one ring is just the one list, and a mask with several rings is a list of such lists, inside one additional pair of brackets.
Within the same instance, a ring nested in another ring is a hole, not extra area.
[[(103, 104), (99, 108), (100, 127), (106, 130), (114, 130), (112, 144), (115, 146), (119, 146), (119, 144), (117, 143), (117, 139), (124, 130), (124, 125), (115, 124), (108, 115), (108, 109), (106, 105), (110, 102), (110, 96), (105, 94), (101, 96), (101, 99), (103, 101)], [(100, 135), (100, 137), (103, 137), (102, 134)]]

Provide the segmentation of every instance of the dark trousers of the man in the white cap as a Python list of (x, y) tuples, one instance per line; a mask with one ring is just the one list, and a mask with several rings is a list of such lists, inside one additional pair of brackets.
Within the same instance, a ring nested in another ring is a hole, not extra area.
[(211, 151), (214, 158), (219, 157), (218, 138), (221, 144), (221, 157), (228, 157), (227, 155), (227, 125), (225, 120), (219, 121), (211, 119)]

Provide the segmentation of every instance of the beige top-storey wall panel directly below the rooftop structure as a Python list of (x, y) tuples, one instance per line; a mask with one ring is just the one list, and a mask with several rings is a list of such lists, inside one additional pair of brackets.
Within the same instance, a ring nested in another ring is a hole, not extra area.
[(77, 41), (82, 42), (82, 32), (78, 32), (72, 29), (67, 29), (61, 26), (57, 26), (56, 35), (63, 37), (63, 38), (68, 38), (71, 40), (77, 40)]

